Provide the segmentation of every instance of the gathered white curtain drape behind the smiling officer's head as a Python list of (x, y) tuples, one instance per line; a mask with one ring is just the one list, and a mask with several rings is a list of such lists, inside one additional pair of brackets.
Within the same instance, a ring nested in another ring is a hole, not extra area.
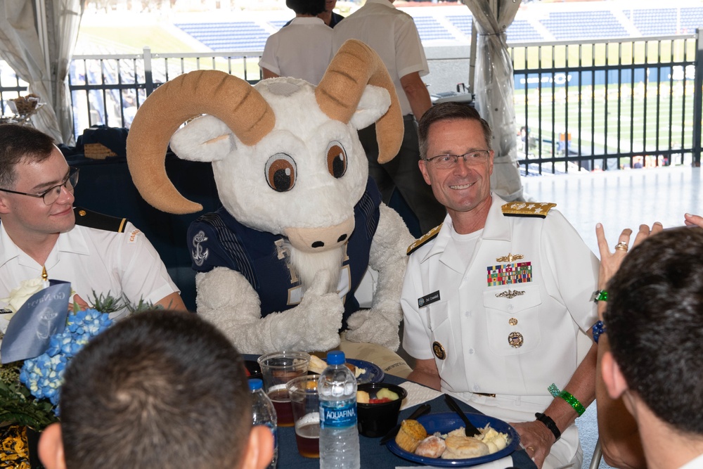
[(463, 0), (477, 27), (474, 76), (476, 108), (493, 130), (496, 152), (491, 188), (505, 200), (522, 200), (522, 181), (517, 168), (515, 82), (505, 30), (515, 19), (520, 0), (499, 0), (498, 14), (489, 0)]

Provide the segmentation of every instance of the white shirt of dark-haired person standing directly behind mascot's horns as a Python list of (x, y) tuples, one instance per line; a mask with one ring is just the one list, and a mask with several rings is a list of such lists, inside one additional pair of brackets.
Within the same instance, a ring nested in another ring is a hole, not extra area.
[(316, 85), (332, 56), (332, 28), (320, 18), (296, 17), (266, 39), (259, 67)]

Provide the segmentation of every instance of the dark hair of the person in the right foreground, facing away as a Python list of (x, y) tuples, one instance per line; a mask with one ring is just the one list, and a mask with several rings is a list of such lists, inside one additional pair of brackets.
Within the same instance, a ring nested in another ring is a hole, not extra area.
[(606, 333), (628, 387), (664, 422), (703, 435), (703, 229), (647, 238), (607, 292)]

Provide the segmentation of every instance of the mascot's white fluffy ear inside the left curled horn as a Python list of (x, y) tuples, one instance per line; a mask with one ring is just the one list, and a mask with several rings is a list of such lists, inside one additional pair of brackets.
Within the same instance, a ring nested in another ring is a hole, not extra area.
[(212, 115), (196, 117), (171, 137), (171, 149), (183, 160), (212, 162), (226, 158), (236, 148), (227, 125)]

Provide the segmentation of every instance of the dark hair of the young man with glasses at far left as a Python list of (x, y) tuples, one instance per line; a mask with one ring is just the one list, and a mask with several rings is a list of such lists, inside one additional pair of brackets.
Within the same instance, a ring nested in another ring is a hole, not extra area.
[(42, 161), (53, 151), (53, 139), (26, 125), (0, 125), (0, 188), (13, 189), (15, 166), (20, 162)]

